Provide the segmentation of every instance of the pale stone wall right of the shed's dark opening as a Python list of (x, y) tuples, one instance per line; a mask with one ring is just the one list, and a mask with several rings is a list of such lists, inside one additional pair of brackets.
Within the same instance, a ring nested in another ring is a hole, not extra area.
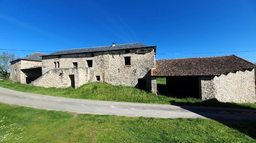
[(221, 76), (203, 76), (202, 99), (216, 98), (221, 102), (256, 102), (254, 69), (239, 70)]

